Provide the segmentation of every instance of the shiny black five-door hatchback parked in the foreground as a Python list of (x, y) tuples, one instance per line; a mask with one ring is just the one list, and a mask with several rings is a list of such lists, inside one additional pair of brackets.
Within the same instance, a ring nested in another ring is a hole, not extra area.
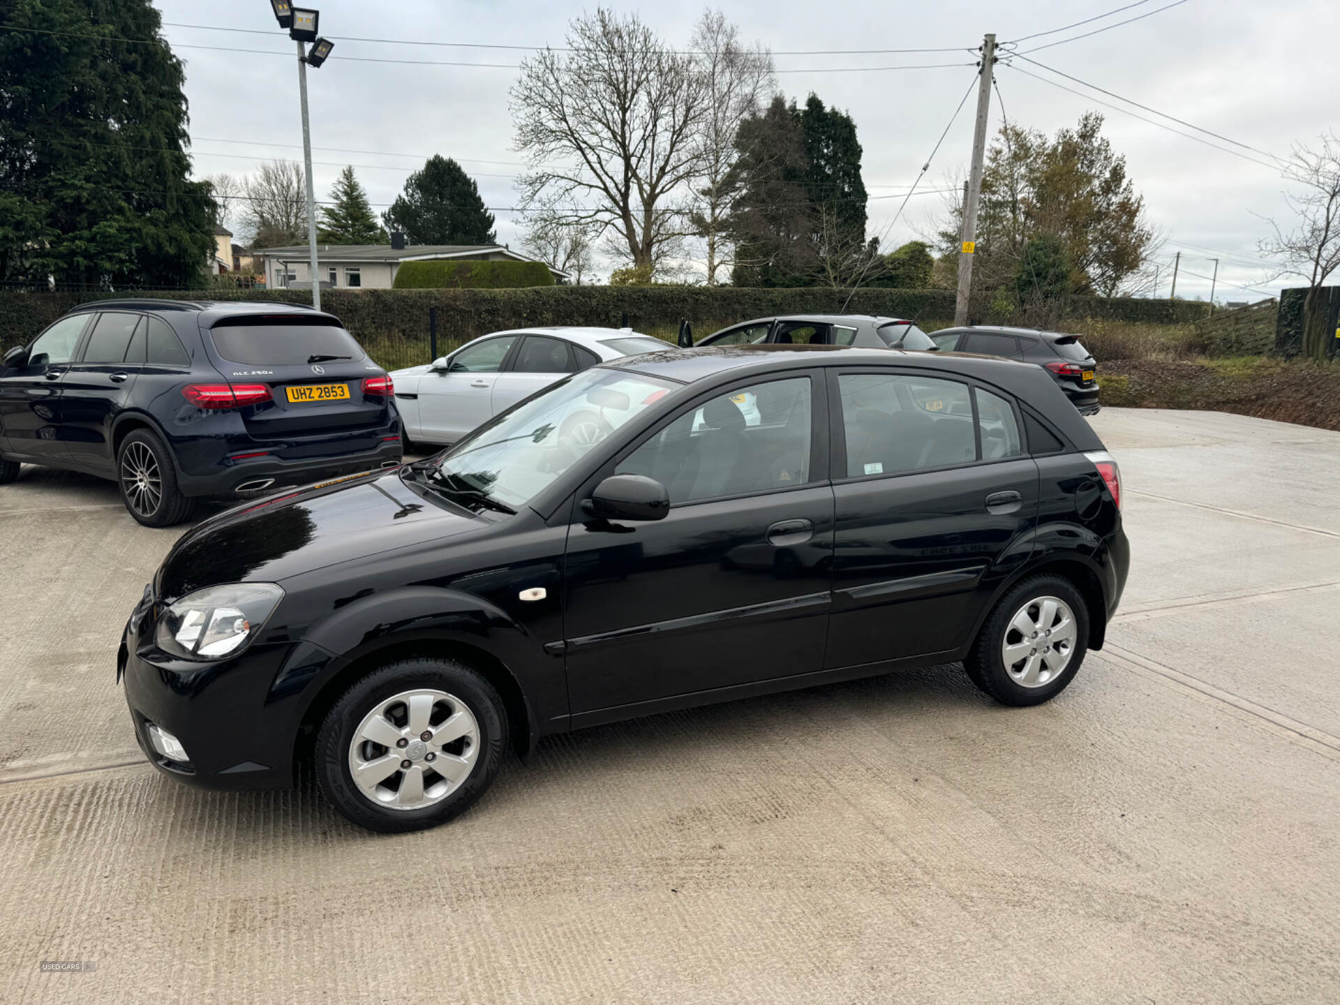
[(188, 532), (126, 627), (147, 757), (377, 831), (549, 733), (962, 661), (1073, 679), (1126, 582), (1120, 480), (1040, 367), (823, 346), (586, 370), (450, 450)]

